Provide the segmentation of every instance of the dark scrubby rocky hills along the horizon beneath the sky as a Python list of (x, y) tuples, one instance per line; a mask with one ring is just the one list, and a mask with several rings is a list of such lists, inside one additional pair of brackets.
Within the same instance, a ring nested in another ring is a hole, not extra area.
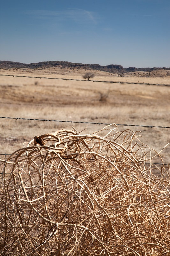
[(0, 61), (0, 68), (10, 69), (10, 68), (31, 68), (31, 69), (44, 69), (44, 68), (51, 68), (51, 67), (60, 67), (60, 68), (70, 68), (70, 69), (91, 69), (91, 70), (100, 70), (106, 71), (109, 73), (114, 74), (123, 74), (128, 72), (151, 72), (154, 70), (170, 70), (170, 68), (123, 68), (121, 65), (107, 65), (101, 66), (99, 64), (82, 64), (82, 63), (72, 63), (68, 61), (42, 61), (37, 63), (20, 63), (20, 62), (13, 62), (8, 60), (1, 60)]

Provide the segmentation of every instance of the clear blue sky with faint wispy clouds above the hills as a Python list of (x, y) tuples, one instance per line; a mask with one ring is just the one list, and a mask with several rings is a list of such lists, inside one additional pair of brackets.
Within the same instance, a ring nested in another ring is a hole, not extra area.
[(1, 0), (0, 60), (170, 67), (170, 0)]

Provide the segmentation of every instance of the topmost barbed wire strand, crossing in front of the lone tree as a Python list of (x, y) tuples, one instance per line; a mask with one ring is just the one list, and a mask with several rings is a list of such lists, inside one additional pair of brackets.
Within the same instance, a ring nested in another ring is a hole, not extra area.
[(122, 81), (99, 81), (99, 80), (83, 80), (83, 79), (70, 79), (70, 78), (56, 78), (56, 77), (41, 77), (41, 76), (18, 76), (18, 75), (5, 75), (0, 74), (0, 76), (16, 76), (16, 77), (28, 77), (28, 78), (43, 78), (43, 79), (55, 79), (55, 80), (70, 80), (70, 81), (84, 81), (84, 82), (101, 82), (101, 83), (111, 83), (111, 84), (146, 84), (146, 85), (159, 85), (159, 86), (170, 86), (170, 84), (150, 84), (150, 83), (133, 83), (133, 82), (122, 82)]

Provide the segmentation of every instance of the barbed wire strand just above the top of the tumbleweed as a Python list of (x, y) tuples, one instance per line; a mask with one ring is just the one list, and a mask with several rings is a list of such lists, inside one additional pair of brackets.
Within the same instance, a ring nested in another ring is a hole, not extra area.
[[(49, 119), (33, 119), (33, 118), (20, 118), (20, 117), (4, 117), (0, 116), (0, 118), (6, 119), (16, 119), (16, 120), (33, 120), (33, 121), (46, 121), (46, 122), (62, 122), (62, 123), (71, 123), (71, 124), (104, 124), (110, 125), (108, 123), (95, 123), (95, 122), (82, 122), (82, 121), (63, 121), (63, 120), (49, 120)], [(154, 125), (137, 125), (137, 124), (116, 124), (122, 126), (136, 126), (136, 127), (147, 127), (147, 128), (170, 128), (169, 126), (154, 126)]]

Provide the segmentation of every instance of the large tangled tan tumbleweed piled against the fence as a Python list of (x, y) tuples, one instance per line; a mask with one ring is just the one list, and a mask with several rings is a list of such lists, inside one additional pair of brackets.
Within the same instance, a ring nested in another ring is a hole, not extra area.
[(1, 255), (170, 255), (169, 174), (151, 151), (115, 125), (35, 137), (3, 163)]

